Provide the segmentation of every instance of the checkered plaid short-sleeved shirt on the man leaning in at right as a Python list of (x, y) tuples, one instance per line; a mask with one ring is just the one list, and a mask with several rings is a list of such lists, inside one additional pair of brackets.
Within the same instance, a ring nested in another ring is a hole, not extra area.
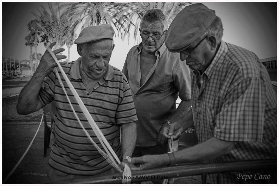
[[(254, 53), (222, 41), (206, 71), (192, 72), (191, 90), (199, 142), (212, 137), (236, 142), (230, 153), (209, 162), (276, 158), (276, 93)], [(210, 178), (240, 183), (236, 174)]]

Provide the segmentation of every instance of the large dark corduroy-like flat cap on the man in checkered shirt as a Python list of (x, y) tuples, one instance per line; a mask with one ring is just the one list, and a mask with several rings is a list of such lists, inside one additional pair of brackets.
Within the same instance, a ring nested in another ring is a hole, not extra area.
[(186, 6), (169, 26), (165, 35), (166, 47), (170, 52), (186, 49), (198, 37), (205, 34), (215, 18), (215, 11), (202, 3)]

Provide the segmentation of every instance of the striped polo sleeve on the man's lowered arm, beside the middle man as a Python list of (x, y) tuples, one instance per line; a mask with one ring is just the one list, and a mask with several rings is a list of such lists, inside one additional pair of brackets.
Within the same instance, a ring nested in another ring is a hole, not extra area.
[(137, 114), (133, 102), (133, 97), (131, 95), (130, 86), (126, 82), (124, 82), (123, 98), (117, 108), (115, 118), (117, 124), (131, 123), (137, 121)]

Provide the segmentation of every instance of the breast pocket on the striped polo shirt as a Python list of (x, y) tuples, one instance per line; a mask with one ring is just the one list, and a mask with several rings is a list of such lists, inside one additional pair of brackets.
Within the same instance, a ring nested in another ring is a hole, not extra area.
[(105, 95), (101, 110), (101, 118), (103, 122), (115, 124), (115, 114), (117, 109), (117, 103), (118, 103), (118, 96), (115, 95)]

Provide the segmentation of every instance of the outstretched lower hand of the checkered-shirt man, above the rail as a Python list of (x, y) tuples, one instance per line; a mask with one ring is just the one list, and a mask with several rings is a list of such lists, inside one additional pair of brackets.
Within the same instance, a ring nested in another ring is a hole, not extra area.
[(135, 168), (132, 167), (131, 171), (142, 170), (142, 169), (151, 169), (151, 168), (167, 165), (163, 158), (164, 155), (168, 156), (167, 154), (158, 154), (158, 155), (144, 155), (141, 157), (131, 158), (128, 160), (130, 163), (140, 164), (140, 167), (135, 167)]

